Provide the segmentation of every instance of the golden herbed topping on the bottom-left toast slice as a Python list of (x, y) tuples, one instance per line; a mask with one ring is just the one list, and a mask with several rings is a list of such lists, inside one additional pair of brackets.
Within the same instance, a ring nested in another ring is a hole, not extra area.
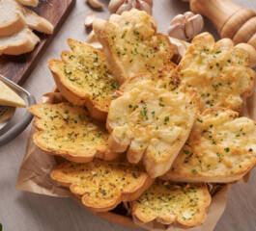
[[(69, 183), (71, 191), (84, 195), (88, 203), (117, 199), (122, 192), (139, 189), (147, 174), (138, 166), (126, 162), (106, 162), (95, 159), (87, 164), (66, 163), (52, 172), (54, 180)], [(109, 205), (109, 204), (108, 204)]]

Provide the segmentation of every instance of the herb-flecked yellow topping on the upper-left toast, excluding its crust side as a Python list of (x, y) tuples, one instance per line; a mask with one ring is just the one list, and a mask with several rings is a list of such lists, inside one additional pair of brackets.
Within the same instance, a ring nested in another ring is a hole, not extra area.
[(108, 110), (119, 84), (112, 78), (104, 54), (76, 40), (69, 39), (69, 44), (72, 52), (63, 52), (63, 61), (50, 68), (60, 76), (66, 88)]

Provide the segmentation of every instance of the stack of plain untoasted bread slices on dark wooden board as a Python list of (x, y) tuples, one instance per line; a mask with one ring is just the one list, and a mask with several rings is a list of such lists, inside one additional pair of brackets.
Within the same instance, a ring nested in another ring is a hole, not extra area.
[(45, 34), (53, 33), (50, 22), (24, 7), (36, 7), (38, 4), (38, 0), (0, 1), (0, 55), (31, 52), (40, 41), (33, 30)]

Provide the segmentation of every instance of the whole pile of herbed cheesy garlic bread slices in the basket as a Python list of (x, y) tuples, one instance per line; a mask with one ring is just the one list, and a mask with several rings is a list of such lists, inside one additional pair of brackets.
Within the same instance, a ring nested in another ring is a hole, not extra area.
[(63, 158), (52, 179), (92, 211), (126, 203), (143, 226), (202, 224), (210, 184), (256, 164), (256, 123), (241, 116), (254, 88), (248, 55), (204, 33), (173, 64), (169, 39), (137, 10), (97, 19), (94, 31), (102, 50), (69, 39), (48, 63), (62, 102), (30, 108), (35, 143)]

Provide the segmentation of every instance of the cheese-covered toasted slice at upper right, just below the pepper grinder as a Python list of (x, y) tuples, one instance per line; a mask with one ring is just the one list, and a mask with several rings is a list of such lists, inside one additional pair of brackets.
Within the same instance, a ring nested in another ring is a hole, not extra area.
[(243, 100), (253, 92), (255, 72), (248, 67), (248, 54), (231, 39), (214, 42), (203, 33), (192, 40), (178, 67), (183, 83), (201, 95), (202, 109), (225, 107), (242, 111)]

